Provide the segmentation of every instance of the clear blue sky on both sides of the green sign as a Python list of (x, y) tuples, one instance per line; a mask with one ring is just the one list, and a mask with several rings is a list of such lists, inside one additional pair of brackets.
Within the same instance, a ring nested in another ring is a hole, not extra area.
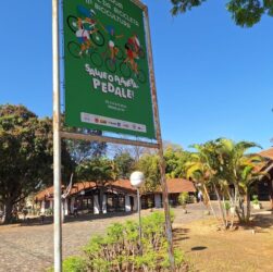
[[(224, 1), (172, 17), (169, 0), (147, 0), (162, 135), (187, 148), (218, 137), (273, 137), (273, 18), (234, 24)], [(51, 1), (1, 1), (0, 103), (52, 112)]]

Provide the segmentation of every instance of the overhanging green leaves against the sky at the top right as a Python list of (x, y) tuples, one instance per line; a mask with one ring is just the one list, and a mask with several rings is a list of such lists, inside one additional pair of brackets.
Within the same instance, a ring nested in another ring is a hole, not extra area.
[[(201, 5), (206, 0), (171, 0), (172, 14), (185, 13), (195, 7)], [(228, 0), (226, 9), (232, 18), (239, 26), (251, 27), (260, 22), (262, 15), (273, 16), (272, 0)]]

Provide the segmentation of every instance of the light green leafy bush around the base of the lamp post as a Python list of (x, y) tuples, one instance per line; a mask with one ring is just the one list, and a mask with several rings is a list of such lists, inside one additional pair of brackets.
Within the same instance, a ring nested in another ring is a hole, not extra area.
[[(84, 259), (66, 259), (64, 271), (170, 271), (164, 222), (162, 212), (142, 219), (142, 254), (137, 222), (114, 223), (108, 227), (107, 235), (90, 239), (84, 248)], [(183, 263), (184, 255), (175, 250), (176, 268)]]

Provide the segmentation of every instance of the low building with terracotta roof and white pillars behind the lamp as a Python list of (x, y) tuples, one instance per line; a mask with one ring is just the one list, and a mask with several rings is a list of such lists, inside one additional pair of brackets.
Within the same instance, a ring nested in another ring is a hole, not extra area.
[[(176, 206), (178, 196), (183, 191), (195, 195), (196, 188), (190, 181), (183, 178), (172, 178), (166, 181), (170, 203)], [(63, 199), (64, 214), (71, 214), (76, 207), (80, 213), (100, 213), (100, 189), (95, 182), (75, 183), (67, 196)], [(63, 188), (64, 190), (64, 188)], [(53, 209), (53, 186), (41, 190), (35, 197), (36, 205), (44, 213), (48, 209)], [(141, 194), (141, 208), (161, 208), (162, 190), (159, 187), (156, 191)], [(131, 212), (137, 210), (137, 191), (128, 180), (120, 180), (103, 186), (102, 213), (109, 212)]]

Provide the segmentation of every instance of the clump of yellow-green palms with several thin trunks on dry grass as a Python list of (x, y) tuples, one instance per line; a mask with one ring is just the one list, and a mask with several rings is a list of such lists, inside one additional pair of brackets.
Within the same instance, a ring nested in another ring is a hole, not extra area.
[(261, 171), (263, 159), (248, 152), (250, 148), (259, 147), (259, 145), (251, 141), (235, 143), (231, 139), (219, 138), (193, 147), (196, 152), (187, 163), (187, 174), (194, 181), (199, 182), (204, 190), (210, 188), (215, 193), (224, 226), (228, 226), (223, 209), (225, 200), (231, 202), (240, 222), (248, 222), (250, 187), (265, 174)]

